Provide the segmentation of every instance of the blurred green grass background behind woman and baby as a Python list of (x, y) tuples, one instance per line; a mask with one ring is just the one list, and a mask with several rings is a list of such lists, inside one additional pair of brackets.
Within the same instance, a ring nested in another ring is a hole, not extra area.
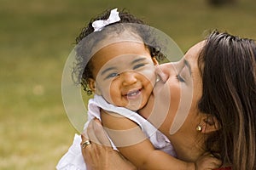
[(0, 169), (54, 169), (76, 130), (61, 100), (74, 38), (106, 8), (127, 8), (186, 51), (220, 31), (256, 39), (256, 1), (0, 0)]

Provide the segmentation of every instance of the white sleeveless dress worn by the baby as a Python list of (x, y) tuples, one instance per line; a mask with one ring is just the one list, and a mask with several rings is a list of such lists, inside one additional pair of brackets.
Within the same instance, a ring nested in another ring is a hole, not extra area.
[[(100, 108), (105, 111), (111, 111), (121, 116), (125, 116), (128, 119), (131, 119), (133, 122), (136, 122), (138, 126), (141, 127), (143, 133), (145, 133), (148, 139), (150, 139), (156, 150), (163, 150), (171, 156), (176, 156), (169, 139), (167, 139), (163, 133), (160, 133), (160, 131), (158, 131), (150, 122), (144, 119), (143, 116), (140, 116), (139, 114), (137, 114), (137, 112), (128, 110), (124, 107), (117, 107), (115, 105), (111, 105), (105, 99), (103, 99), (102, 96), (99, 95), (95, 95), (93, 99), (89, 100), (88, 121), (84, 124), (84, 128), (88, 126), (88, 123), (94, 117), (101, 120)], [(68, 149), (67, 153), (61, 157), (61, 160), (58, 162), (56, 169), (86, 170), (80, 143), (80, 135), (75, 134), (73, 144)], [(111, 144), (113, 146), (113, 149), (117, 150), (112, 141)]]

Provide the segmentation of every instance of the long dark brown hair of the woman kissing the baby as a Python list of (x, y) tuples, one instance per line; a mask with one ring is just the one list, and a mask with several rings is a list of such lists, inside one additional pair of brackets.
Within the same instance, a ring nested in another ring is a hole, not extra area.
[(207, 151), (232, 170), (256, 169), (256, 45), (251, 39), (213, 31), (198, 65), (202, 77), (199, 109), (218, 120)]

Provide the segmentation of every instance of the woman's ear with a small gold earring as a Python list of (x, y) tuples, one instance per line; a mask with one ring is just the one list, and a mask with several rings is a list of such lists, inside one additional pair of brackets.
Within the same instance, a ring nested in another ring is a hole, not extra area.
[(217, 118), (210, 114), (205, 115), (206, 116), (201, 118), (201, 133), (212, 133), (217, 131), (220, 128)]

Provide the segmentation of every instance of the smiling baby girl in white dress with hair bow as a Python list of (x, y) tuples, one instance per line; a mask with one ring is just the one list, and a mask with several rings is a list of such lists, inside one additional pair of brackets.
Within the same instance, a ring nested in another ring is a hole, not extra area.
[[(95, 93), (88, 105), (88, 122), (96, 117), (103, 125), (111, 125), (106, 126), (106, 130), (113, 148), (138, 168), (217, 167), (204, 164), (216, 161), (210, 156), (201, 157), (196, 166), (193, 162), (177, 160), (166, 136), (135, 112), (148, 102), (154, 83), (158, 81), (154, 65), (158, 64), (156, 59), (163, 57), (157, 50), (152, 32), (142, 24), (143, 21), (131, 14), (119, 14), (113, 9), (110, 14), (107, 11), (91, 20), (77, 38), (78, 63), (74, 74), (78, 73), (79, 81), (88, 94), (91, 91)], [(57, 169), (86, 169), (80, 142), (80, 137), (76, 136)], [(81, 146), (88, 144), (90, 141)]]

